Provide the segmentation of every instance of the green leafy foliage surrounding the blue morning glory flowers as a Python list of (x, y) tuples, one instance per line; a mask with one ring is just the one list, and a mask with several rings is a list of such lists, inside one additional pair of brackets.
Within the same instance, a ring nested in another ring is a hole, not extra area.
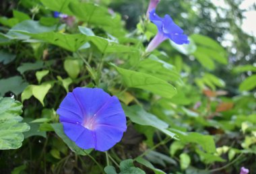
[[(159, 14), (191, 43), (146, 54), (157, 32), (148, 1), (1, 1), (1, 173), (256, 171), (255, 38), (241, 30), (242, 1), (225, 2), (162, 0)], [(58, 123), (77, 86), (123, 103), (128, 130), (107, 154), (77, 147)]]

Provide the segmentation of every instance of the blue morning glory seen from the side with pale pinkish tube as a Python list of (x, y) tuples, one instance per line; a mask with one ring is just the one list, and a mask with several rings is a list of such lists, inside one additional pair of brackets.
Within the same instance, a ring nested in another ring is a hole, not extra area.
[(183, 34), (183, 30), (172, 21), (170, 15), (161, 18), (156, 14), (156, 9), (152, 9), (150, 11), (150, 21), (158, 27), (158, 33), (148, 44), (146, 52), (151, 52), (166, 39), (170, 39), (176, 44), (189, 44), (187, 35)]

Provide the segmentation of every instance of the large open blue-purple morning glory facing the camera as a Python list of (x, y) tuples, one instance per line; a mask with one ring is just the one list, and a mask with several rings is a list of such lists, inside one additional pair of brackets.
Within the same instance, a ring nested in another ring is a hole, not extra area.
[(84, 149), (108, 150), (127, 129), (119, 99), (99, 88), (76, 87), (67, 93), (57, 114), (65, 134)]

